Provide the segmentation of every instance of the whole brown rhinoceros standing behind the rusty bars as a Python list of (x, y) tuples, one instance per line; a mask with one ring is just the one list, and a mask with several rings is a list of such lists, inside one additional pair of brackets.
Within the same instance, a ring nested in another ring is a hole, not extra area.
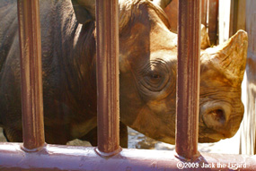
[[(163, 12), (167, 1), (119, 1), (121, 145), (126, 125), (174, 143), (177, 34)], [(8, 141), (22, 141), (16, 0), (0, 0), (0, 124)], [(95, 144), (97, 93), (95, 1), (40, 0), (46, 142)], [(188, 28), (189, 29), (189, 28)], [(247, 34), (201, 51), (199, 141), (229, 138), (243, 118), (241, 82)], [(123, 141), (124, 140), (124, 141)]]

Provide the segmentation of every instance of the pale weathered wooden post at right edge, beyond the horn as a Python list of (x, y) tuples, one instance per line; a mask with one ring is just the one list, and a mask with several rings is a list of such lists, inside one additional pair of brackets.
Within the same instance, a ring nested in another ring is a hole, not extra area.
[(241, 152), (255, 154), (256, 147), (256, 1), (246, 1), (246, 31), (248, 32), (248, 56), (246, 66), (246, 104), (241, 129)]

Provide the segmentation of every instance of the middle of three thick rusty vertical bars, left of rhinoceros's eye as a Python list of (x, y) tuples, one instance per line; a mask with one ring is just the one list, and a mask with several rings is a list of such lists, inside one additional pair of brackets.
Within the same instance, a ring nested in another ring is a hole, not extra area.
[(118, 0), (96, 1), (98, 150), (113, 155), (119, 147)]

